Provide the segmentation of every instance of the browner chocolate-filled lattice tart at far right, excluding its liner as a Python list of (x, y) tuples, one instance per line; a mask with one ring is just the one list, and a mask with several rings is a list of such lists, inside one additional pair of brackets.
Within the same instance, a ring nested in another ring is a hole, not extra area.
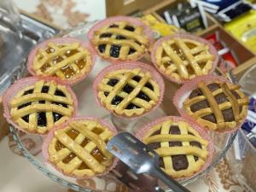
[(212, 131), (230, 131), (246, 118), (248, 99), (239, 85), (218, 79), (197, 85), (183, 108), (198, 124)]

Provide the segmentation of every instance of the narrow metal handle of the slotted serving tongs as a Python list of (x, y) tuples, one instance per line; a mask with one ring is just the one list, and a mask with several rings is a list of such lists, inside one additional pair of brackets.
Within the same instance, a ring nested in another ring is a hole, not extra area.
[(161, 169), (154, 169), (150, 172), (154, 177), (159, 178), (163, 183), (165, 183), (168, 187), (175, 192), (190, 192), (189, 189), (186, 189), (180, 183), (177, 183), (172, 177), (166, 175), (166, 172), (163, 172)]

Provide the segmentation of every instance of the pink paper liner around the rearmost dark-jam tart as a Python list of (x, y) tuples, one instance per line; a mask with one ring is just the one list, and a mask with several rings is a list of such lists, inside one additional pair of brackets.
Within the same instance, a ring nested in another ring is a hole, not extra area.
[[(124, 20), (128, 21), (129, 23), (133, 24), (134, 26), (143, 26), (144, 34), (149, 39), (149, 46), (148, 46), (148, 51), (149, 51), (149, 48), (150, 48), (151, 44), (154, 43), (154, 32), (152, 32), (152, 30), (150, 29), (149, 26), (144, 24), (142, 20), (138, 20), (137, 18), (134, 18), (134, 17), (130, 17), (130, 16), (112, 16), (112, 17), (108, 17), (105, 20), (100, 20), (100, 21), (96, 22), (96, 24), (94, 26), (92, 26), (90, 28), (89, 32), (88, 32), (88, 36), (87, 37), (90, 39), (90, 45), (91, 45), (92, 49), (94, 49), (94, 51), (96, 52), (97, 55), (99, 55), (98, 51), (95, 48), (95, 45), (91, 42), (91, 39), (94, 36), (94, 32), (99, 30), (103, 26), (107, 26), (110, 23), (114, 23), (114, 22), (118, 22), (118, 21), (124, 21)], [(147, 52), (145, 54), (147, 54)], [(141, 58), (143, 58), (143, 56), (145, 54), (143, 54), (140, 57), (138, 57), (137, 61), (140, 60)], [(124, 61), (112, 60), (111, 58), (109, 58), (109, 59), (103, 58), (101, 55), (99, 55), (99, 56), (102, 59), (106, 60), (106, 61), (110, 61), (112, 64), (118, 64), (119, 62), (124, 62)]]

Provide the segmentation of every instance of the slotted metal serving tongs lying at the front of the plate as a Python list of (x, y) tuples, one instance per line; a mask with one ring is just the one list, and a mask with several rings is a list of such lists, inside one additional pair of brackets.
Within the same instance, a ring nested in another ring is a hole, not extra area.
[[(129, 132), (121, 132), (113, 137), (107, 144), (107, 149), (114, 156), (119, 158), (126, 166), (129, 166), (132, 172), (136, 174), (148, 173), (149, 175), (160, 179), (172, 191), (189, 192), (180, 183), (173, 180), (160, 169), (159, 155), (154, 150), (148, 148), (144, 143), (132, 136)], [(165, 191), (155, 186), (154, 191)]]

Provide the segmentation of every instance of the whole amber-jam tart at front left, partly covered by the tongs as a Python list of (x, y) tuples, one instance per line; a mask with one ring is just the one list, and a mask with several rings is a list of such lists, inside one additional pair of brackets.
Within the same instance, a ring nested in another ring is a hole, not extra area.
[(49, 133), (48, 161), (67, 176), (94, 177), (109, 171), (113, 155), (106, 144), (114, 132), (97, 119), (72, 119)]

